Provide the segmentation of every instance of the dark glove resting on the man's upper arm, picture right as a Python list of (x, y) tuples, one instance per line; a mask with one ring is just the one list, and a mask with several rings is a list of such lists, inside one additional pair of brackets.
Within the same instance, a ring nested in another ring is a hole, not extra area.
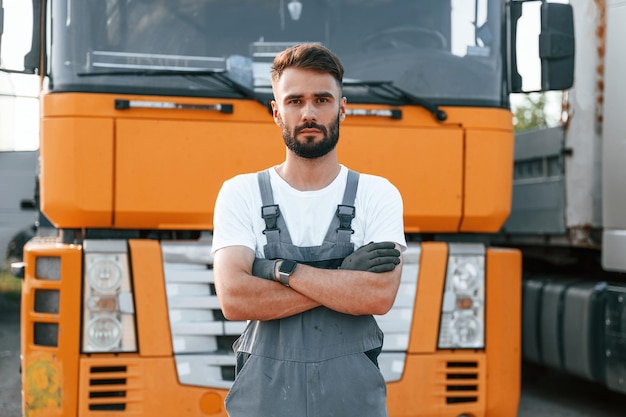
[(393, 242), (370, 242), (348, 255), (339, 269), (389, 272), (400, 263), (400, 251)]

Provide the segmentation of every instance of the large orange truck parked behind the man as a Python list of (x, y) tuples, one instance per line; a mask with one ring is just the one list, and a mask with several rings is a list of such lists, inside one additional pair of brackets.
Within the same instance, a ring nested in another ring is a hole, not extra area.
[[(39, 204), (54, 233), (25, 248), (25, 416), (226, 416), (245, 323), (215, 295), (213, 206), (225, 179), (282, 160), (269, 68), (300, 41), (345, 65), (341, 162), (404, 199), (402, 283), (377, 317), (389, 415), (517, 415), (521, 255), (473, 237), (510, 211), (530, 5), (32, 4), (23, 70), (42, 80)], [(572, 9), (539, 5), (539, 88), (564, 89)]]

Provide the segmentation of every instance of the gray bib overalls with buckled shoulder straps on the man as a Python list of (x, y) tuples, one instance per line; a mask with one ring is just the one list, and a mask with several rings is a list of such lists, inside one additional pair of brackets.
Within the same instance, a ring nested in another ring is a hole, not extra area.
[[(273, 202), (269, 172), (259, 173), (268, 259), (292, 259), (337, 268), (354, 251), (351, 221), (358, 174), (348, 172), (324, 243), (291, 243)], [(383, 333), (371, 315), (353, 316), (317, 307), (279, 320), (251, 321), (233, 348), (237, 377), (228, 396), (230, 417), (384, 417), (386, 385), (376, 358)]]

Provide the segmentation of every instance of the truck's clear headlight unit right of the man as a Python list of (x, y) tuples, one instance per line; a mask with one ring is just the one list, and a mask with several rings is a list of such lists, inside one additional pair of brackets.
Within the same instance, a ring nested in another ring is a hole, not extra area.
[(439, 326), (440, 349), (485, 346), (485, 247), (450, 244)]

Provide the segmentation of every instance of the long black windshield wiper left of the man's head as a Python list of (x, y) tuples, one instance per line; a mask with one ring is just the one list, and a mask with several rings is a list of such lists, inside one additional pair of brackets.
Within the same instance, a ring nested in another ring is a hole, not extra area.
[[(221, 85), (228, 87), (231, 91), (239, 93), (244, 98), (254, 100), (264, 107), (269, 112), (272, 112), (272, 107), (269, 101), (263, 100), (263, 97), (257, 94), (253, 89), (246, 87), (245, 85), (233, 80), (228, 75), (228, 72), (223, 69), (197, 69), (197, 70), (173, 70), (173, 69), (123, 69), (116, 71), (93, 71), (93, 72), (79, 72), (76, 75), (79, 77), (96, 77), (96, 76), (184, 76), (184, 77), (197, 77), (208, 76), (211, 79), (218, 81)], [(196, 80), (197, 82), (197, 80)]]

